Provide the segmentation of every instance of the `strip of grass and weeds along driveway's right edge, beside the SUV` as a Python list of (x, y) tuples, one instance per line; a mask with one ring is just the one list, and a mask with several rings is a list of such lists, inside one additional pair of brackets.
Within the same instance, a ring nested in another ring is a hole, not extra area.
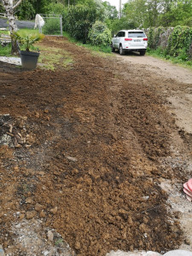
[(173, 64), (178, 64), (179, 66), (189, 67), (190, 69), (192, 69), (192, 60), (188, 60), (186, 54), (184, 54), (183, 51), (181, 51), (180, 55), (178, 55), (177, 57), (166, 55), (166, 50), (161, 48), (148, 49), (147, 54), (155, 58), (170, 61)]

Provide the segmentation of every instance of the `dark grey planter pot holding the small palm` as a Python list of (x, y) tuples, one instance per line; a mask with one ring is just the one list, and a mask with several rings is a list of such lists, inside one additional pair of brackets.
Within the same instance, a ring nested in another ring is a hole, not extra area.
[(38, 64), (38, 52), (20, 50), (22, 67), (28, 70), (35, 69)]

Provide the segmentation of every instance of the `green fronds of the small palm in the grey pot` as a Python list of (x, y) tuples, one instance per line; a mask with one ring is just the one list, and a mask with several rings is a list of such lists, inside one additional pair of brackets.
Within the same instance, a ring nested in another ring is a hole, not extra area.
[(30, 51), (30, 49), (32, 49), (33, 44), (42, 40), (44, 38), (44, 35), (38, 32), (29, 34), (25, 31), (18, 31), (14, 32), (12, 37), (19, 42), (23, 49), (25, 49), (26, 51)]

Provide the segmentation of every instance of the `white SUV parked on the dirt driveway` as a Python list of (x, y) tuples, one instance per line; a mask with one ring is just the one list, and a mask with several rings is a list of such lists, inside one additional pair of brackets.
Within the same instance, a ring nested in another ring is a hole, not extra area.
[(148, 38), (143, 30), (121, 30), (112, 39), (112, 51), (119, 49), (120, 55), (125, 55), (126, 51), (139, 51), (140, 55), (145, 55), (148, 47)]

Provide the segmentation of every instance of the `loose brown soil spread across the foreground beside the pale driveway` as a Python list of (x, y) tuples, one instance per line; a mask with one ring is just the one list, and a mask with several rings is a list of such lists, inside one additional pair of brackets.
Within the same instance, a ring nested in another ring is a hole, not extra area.
[[(175, 126), (154, 82), (123, 79), (113, 58), (74, 52), (65, 38), (42, 44), (76, 62), (55, 72), (0, 68), (0, 136), (15, 127), (0, 151), (0, 244), (14, 244), (12, 222), (36, 218), (79, 256), (177, 247), (178, 216), (167, 212), (159, 181), (180, 176), (159, 165), (172, 154)], [(26, 139), (19, 147), (16, 135)]]

